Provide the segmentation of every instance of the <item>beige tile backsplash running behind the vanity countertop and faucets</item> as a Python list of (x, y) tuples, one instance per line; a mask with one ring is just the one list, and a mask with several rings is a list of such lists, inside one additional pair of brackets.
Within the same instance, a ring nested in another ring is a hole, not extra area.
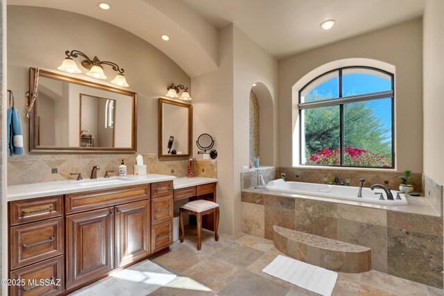
[[(156, 154), (140, 153), (144, 157), (147, 173), (188, 176), (188, 160), (160, 161)], [(82, 173), (88, 178), (92, 166), (99, 166), (98, 177), (105, 171), (114, 171), (123, 159), (128, 167), (128, 175), (133, 175), (133, 166), (137, 154), (85, 154), (85, 155), (15, 155), (8, 158), (8, 185), (31, 184), (40, 182), (74, 180), (70, 173)], [(52, 173), (54, 168), (57, 173)], [(198, 160), (195, 169), (196, 177), (217, 177), (215, 160)]]

